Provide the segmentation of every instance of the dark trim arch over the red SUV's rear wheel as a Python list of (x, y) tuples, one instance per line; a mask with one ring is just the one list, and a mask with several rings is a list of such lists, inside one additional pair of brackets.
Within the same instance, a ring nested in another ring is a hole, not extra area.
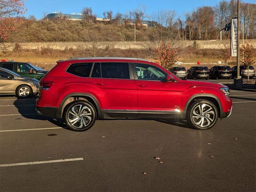
[(97, 101), (97, 99), (93, 95), (88, 94), (88, 93), (72, 93), (72, 94), (66, 95), (64, 97), (64, 99), (62, 100), (62, 102), (60, 103), (60, 106), (58, 108), (58, 118), (62, 118), (63, 111), (64, 111), (65, 107), (70, 102), (73, 102), (75, 100), (88, 100), (90, 103), (92, 103), (92, 105), (96, 109), (97, 117), (99, 119), (102, 118), (102, 111), (101, 111), (99, 102)]

